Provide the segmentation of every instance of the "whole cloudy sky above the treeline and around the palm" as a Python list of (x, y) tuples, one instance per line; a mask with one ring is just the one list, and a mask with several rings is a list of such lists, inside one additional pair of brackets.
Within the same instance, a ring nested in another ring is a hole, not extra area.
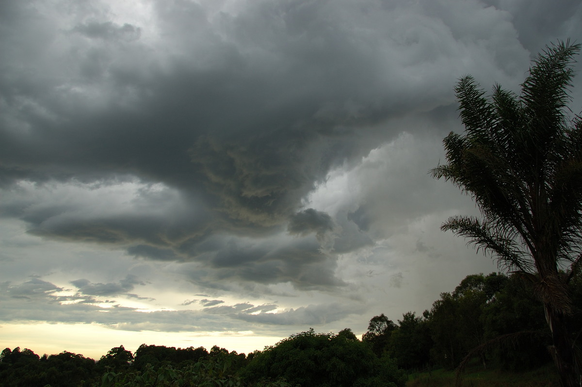
[(0, 346), (249, 353), (421, 314), (498, 271), (439, 229), (478, 214), (428, 173), (457, 80), (519, 91), (567, 38), (579, 0), (3, 0)]

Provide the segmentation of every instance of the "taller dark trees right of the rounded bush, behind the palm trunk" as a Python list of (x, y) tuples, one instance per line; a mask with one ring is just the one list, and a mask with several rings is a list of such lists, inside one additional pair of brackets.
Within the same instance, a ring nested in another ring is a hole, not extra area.
[[(405, 313), (395, 324), (384, 314), (370, 320), (363, 341), (400, 368), (418, 371), (453, 369), (468, 360), (481, 367), (525, 371), (551, 363), (552, 336), (533, 283), (519, 274), (473, 274), (421, 316)], [(569, 283), (573, 314), (582, 315), (582, 275)], [(582, 318), (572, 319), (582, 331)]]

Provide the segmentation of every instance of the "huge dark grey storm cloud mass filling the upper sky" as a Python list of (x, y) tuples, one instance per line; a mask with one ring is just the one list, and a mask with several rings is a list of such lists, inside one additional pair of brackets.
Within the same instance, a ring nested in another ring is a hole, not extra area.
[[(540, 38), (580, 32), (575, 2), (568, 14), (533, 2), (530, 19), (519, 1), (489, 3), (176, 0), (151, 3), (140, 22), (99, 1), (5, 1), (2, 215), (42, 237), (195, 261), (187, 275), (209, 287), (346, 286), (333, 252), (390, 235), (398, 225), (382, 219), (406, 220), (399, 208), (416, 202), (398, 182), (374, 193), (363, 177), (354, 203), (310, 208), (328, 172), (404, 130), (442, 137), (399, 120), (450, 116), (465, 73), (521, 80), (524, 35), (542, 13), (555, 27)], [(137, 283), (73, 285), (104, 295)]]

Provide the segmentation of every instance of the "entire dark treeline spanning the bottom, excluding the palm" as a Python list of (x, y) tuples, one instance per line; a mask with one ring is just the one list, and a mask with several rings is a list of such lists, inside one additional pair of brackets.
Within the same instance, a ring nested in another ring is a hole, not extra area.
[[(30, 349), (0, 354), (0, 386), (389, 386), (402, 387), (406, 372), (456, 368), (472, 358), (482, 368), (524, 371), (551, 362), (551, 333), (530, 282), (519, 275), (468, 275), (441, 293), (422, 315), (393, 322), (372, 317), (359, 340), (337, 334), (297, 333), (248, 355), (214, 346), (115, 347), (95, 361), (62, 352), (38, 356)], [(582, 312), (582, 275), (570, 281), (574, 313)], [(582, 330), (578, 319), (573, 331)], [(230, 383), (230, 384), (229, 384)]]

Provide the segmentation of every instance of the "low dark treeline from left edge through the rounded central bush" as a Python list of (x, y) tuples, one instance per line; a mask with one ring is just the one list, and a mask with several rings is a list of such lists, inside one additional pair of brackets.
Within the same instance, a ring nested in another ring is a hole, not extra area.
[(115, 347), (95, 361), (62, 352), (38, 356), (30, 349), (0, 354), (0, 386), (232, 386), (404, 387), (406, 374), (388, 354), (377, 356), (350, 329), (338, 334), (297, 333), (248, 355), (218, 346)]

